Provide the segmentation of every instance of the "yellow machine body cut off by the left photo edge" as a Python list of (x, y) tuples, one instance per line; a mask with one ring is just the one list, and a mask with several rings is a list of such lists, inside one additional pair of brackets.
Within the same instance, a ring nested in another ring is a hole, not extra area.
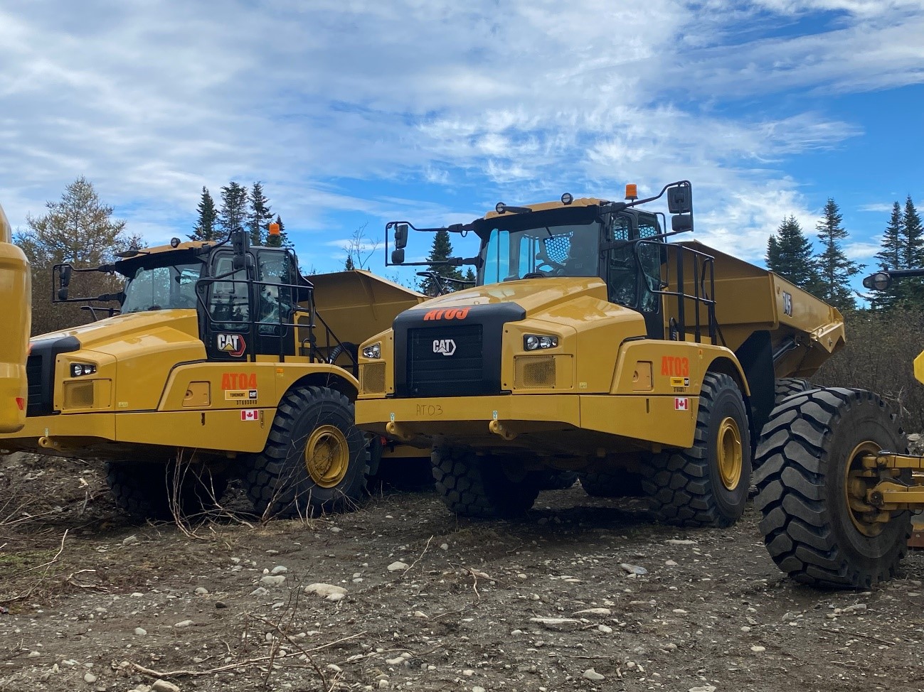
[(30, 282), (29, 262), (13, 245), (13, 230), (0, 207), (0, 306), (6, 330), (0, 339), (0, 433), (15, 433), (26, 421)]

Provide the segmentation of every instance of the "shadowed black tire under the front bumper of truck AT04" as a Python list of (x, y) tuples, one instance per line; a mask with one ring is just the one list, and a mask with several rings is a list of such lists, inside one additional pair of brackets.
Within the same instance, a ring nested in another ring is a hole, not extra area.
[(165, 520), (174, 518), (175, 509), (187, 518), (214, 509), (228, 479), (201, 466), (110, 461), (106, 483), (116, 507), (133, 519)]

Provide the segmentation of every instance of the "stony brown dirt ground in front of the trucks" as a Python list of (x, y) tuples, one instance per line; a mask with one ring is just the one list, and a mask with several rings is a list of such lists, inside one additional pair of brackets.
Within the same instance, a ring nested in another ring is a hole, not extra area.
[(0, 689), (924, 688), (924, 555), (873, 591), (813, 591), (757, 519), (677, 531), (578, 485), (517, 521), (380, 492), (352, 514), (184, 531), (132, 524), (96, 465), (7, 457)]

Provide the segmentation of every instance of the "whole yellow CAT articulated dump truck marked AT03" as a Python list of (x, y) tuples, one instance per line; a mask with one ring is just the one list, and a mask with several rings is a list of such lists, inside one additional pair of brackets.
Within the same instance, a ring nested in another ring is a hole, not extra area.
[[(362, 344), (357, 424), (433, 447), (457, 513), (524, 512), (552, 469), (596, 495), (640, 484), (674, 524), (729, 525), (776, 389), (807, 388), (797, 378), (844, 343), (836, 310), (771, 272), (666, 242), (693, 229), (689, 183), (647, 199), (634, 187), (626, 202), (565, 194), (449, 226), (480, 240), (477, 257), (447, 260), (476, 267), (477, 285)], [(668, 231), (641, 208), (665, 195)], [(388, 224), (394, 264), (412, 228)]]

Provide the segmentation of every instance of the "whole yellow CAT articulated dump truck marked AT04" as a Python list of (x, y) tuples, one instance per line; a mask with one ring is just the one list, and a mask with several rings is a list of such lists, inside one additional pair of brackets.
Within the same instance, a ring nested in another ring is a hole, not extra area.
[(25, 424), (0, 448), (104, 459), (140, 517), (207, 507), (232, 474), (262, 515), (361, 499), (381, 445), (354, 425), (357, 344), (423, 296), (362, 271), (306, 280), (293, 252), (243, 231), (56, 266), (56, 301), (86, 300), (68, 297), (83, 271), (121, 279), (97, 298), (119, 308), (31, 340)]

